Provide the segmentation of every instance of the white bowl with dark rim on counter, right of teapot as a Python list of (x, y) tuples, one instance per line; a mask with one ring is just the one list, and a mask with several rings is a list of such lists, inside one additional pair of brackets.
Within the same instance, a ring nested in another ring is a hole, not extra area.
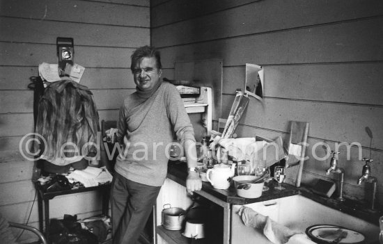
[(263, 186), (265, 182), (251, 183), (258, 179), (253, 175), (240, 175), (233, 178), (235, 191), (237, 195), (245, 198), (257, 198), (262, 195)]

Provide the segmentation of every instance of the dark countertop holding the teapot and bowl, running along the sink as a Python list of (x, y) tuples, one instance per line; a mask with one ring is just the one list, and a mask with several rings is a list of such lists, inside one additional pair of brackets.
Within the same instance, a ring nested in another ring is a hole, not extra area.
[[(178, 161), (169, 161), (167, 177), (177, 182), (178, 184), (185, 186), (187, 177), (187, 164), (180, 163)], [(381, 215), (383, 215), (381, 207), (380, 210), (372, 211), (366, 207), (366, 204), (357, 202), (355, 200), (346, 199), (345, 202), (339, 202), (334, 198), (321, 197), (314, 194), (309, 186), (301, 186), (300, 188), (297, 188), (289, 184), (282, 184), (282, 186), (286, 188), (285, 190), (274, 190), (276, 182), (270, 181), (265, 185), (269, 186), (269, 190), (264, 191), (262, 196), (258, 198), (249, 199), (239, 197), (235, 193), (235, 188), (233, 186), (230, 186), (230, 188), (226, 190), (219, 190), (213, 188), (209, 182), (203, 181), (202, 184), (203, 186), (201, 192), (208, 193), (209, 195), (217, 197), (217, 199), (223, 202), (227, 202), (228, 204), (251, 204), (254, 202), (263, 202), (300, 194), (315, 202), (329, 206), (332, 209), (342, 211), (343, 213), (353, 215), (354, 217), (361, 218), (370, 223), (373, 223), (374, 225), (379, 225), (379, 218)]]

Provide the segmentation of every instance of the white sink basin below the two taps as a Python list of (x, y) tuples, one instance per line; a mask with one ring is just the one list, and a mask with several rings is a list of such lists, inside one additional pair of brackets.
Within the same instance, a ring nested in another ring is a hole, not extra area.
[[(304, 232), (311, 225), (339, 225), (364, 234), (366, 243), (379, 243), (377, 241), (380, 232), (378, 226), (347, 213), (331, 209), (302, 195), (257, 202), (245, 206), (262, 215), (269, 216), (272, 220), (293, 230)], [(270, 243), (260, 231), (246, 227), (243, 224), (240, 216), (237, 215), (240, 207), (241, 205), (233, 206), (232, 243), (254, 243), (254, 240), (257, 240), (258, 244)]]

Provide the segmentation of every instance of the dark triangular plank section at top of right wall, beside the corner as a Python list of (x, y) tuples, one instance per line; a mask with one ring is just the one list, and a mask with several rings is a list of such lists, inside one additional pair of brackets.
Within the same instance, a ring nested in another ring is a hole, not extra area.
[(183, 19), (189, 19), (195, 16), (214, 13), (226, 8), (233, 8), (242, 4), (251, 3), (254, 0), (175, 0), (175, 1), (151, 1), (153, 6), (150, 17), (151, 27), (162, 26), (173, 22), (179, 22)]

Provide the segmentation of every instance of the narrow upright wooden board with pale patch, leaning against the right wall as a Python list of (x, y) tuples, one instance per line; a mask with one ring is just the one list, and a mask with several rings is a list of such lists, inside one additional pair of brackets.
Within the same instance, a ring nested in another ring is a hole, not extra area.
[[(286, 182), (301, 186), (303, 164), (306, 156), (306, 143), (308, 137), (308, 122), (290, 122), (290, 137), (288, 140), (286, 169), (290, 168)], [(294, 167), (297, 166), (297, 167)]]

